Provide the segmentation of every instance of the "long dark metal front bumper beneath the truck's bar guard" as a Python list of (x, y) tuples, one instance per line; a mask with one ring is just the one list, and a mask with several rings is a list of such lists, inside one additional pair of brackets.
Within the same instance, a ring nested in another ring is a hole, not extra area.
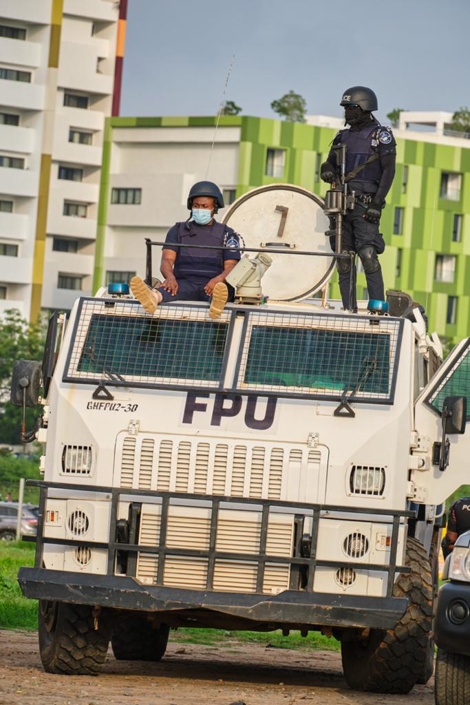
[(252, 623), (388, 629), (407, 609), (406, 598), (286, 590), (275, 596), (142, 585), (132, 577), (21, 568), (26, 597), (146, 612), (204, 611)]

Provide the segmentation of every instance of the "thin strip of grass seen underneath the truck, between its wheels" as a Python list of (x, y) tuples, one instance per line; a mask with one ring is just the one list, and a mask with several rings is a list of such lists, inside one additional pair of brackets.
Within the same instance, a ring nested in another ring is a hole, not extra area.
[[(174, 636), (173, 636), (174, 635)], [(205, 646), (233, 647), (233, 642), (264, 644), (275, 649), (322, 649), (325, 651), (340, 651), (340, 642), (331, 637), (323, 637), (319, 632), (309, 632), (307, 637), (301, 637), (300, 632), (292, 631), (288, 637), (276, 632), (229, 632), (223, 629), (196, 629), (193, 627), (178, 629), (172, 632), (173, 641), (184, 644), (204, 644)]]

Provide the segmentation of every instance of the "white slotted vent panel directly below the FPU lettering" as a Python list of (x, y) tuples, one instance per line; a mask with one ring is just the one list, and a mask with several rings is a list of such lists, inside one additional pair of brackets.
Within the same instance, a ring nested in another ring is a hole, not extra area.
[(286, 445), (125, 436), (116, 481), (133, 489), (317, 501), (320, 451)]

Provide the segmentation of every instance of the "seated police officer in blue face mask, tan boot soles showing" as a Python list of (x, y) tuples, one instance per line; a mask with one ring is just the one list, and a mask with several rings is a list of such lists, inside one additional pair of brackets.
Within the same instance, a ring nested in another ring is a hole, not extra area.
[[(210, 301), (209, 316), (218, 318), (228, 298), (233, 300), (233, 288), (225, 284), (225, 277), (240, 259), (240, 241), (232, 228), (214, 219), (223, 207), (223, 195), (215, 183), (199, 181), (192, 186), (187, 197), (190, 219), (175, 223), (166, 235), (160, 264), (165, 281), (154, 290), (139, 276), (130, 280), (132, 293), (148, 313), (162, 301)], [(233, 250), (211, 249), (214, 246)]]

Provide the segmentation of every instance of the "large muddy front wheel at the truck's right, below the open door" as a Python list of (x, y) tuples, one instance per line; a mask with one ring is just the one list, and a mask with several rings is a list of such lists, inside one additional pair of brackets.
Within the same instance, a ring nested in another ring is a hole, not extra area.
[(367, 639), (341, 644), (347, 685), (376, 693), (408, 693), (423, 673), (433, 616), (431, 565), (422, 544), (407, 540), (405, 565), (393, 594), (407, 597), (408, 608), (395, 629), (370, 630)]

